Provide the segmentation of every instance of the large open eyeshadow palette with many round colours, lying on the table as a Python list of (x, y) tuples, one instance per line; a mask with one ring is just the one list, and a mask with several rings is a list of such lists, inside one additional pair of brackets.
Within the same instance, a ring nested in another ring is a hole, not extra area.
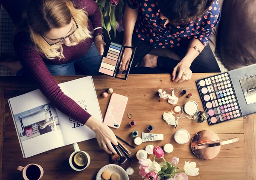
[(208, 123), (256, 112), (256, 64), (196, 81)]

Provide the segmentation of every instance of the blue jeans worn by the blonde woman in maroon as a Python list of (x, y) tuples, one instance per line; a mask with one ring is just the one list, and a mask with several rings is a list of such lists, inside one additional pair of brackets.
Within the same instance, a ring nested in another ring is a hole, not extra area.
[[(53, 76), (98, 75), (101, 74), (99, 73), (99, 65), (101, 60), (102, 56), (99, 54), (99, 51), (96, 49), (94, 43), (92, 43), (92, 46), (87, 54), (85, 54), (84, 57), (73, 61), (72, 63), (45, 63), (45, 65)], [(20, 69), (16, 75), (22, 76), (24, 74), (26, 74), (24, 73), (24, 69)]]

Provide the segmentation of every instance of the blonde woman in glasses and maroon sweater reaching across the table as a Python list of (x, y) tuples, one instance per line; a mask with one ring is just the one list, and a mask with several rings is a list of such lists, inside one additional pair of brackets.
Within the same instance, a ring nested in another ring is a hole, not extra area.
[(26, 16), (14, 38), (23, 66), (17, 75), (29, 73), (57, 109), (92, 129), (99, 146), (116, 154), (113, 131), (67, 97), (52, 77), (76, 75), (74, 66), (84, 74), (97, 74), (105, 45), (98, 6), (93, 0), (30, 0)]

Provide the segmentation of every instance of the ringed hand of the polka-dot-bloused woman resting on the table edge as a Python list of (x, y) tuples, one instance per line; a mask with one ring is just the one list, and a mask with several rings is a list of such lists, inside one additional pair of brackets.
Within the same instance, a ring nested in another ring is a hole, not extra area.
[(192, 77), (192, 71), (189, 69), (191, 63), (186, 60), (181, 60), (180, 63), (172, 71), (173, 82), (183, 82), (184, 80), (190, 80)]

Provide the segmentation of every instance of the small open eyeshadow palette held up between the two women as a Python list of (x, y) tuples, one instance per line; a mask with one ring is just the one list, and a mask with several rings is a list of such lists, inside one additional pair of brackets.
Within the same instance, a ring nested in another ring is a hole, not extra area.
[[(123, 58), (123, 53), (127, 48), (131, 49), (132, 53), (127, 70), (122, 71), (120, 69), (122, 64), (121, 61)], [(99, 66), (99, 72), (111, 77), (127, 80), (135, 50), (136, 47), (123, 46), (112, 42), (106, 44), (104, 54), (102, 56), (102, 62)]]

